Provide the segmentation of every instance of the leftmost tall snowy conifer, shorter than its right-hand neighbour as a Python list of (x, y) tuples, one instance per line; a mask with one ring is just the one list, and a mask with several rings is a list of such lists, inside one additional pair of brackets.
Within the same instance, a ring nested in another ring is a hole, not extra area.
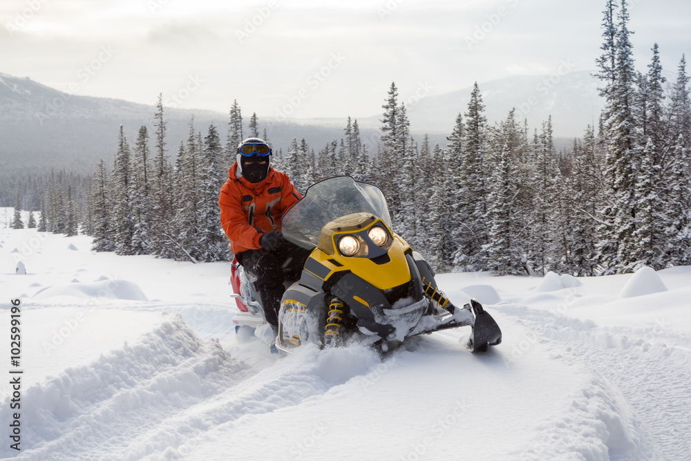
[[(115, 251), (115, 239), (113, 238), (113, 225), (111, 223), (111, 210), (113, 198), (108, 190), (108, 171), (103, 159), (98, 162), (93, 173), (93, 187), (91, 189), (91, 202), (93, 204), (93, 246), (97, 252)], [(41, 212), (41, 220), (44, 213)]]

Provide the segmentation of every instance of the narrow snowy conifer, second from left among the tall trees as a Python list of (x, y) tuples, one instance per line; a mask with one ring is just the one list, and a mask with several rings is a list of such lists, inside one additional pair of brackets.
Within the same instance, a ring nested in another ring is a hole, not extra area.
[(124, 128), (120, 125), (120, 133), (117, 136), (117, 152), (115, 153), (115, 160), (113, 160), (111, 196), (113, 198), (112, 219), (115, 229), (115, 253), (121, 255), (134, 254), (132, 247), (134, 222), (129, 188), (132, 176), (130, 156), (129, 143)]

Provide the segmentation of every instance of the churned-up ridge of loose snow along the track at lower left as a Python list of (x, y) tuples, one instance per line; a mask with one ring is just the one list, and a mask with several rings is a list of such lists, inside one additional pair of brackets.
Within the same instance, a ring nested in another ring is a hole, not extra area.
[[(22, 397), (33, 402), (21, 415), (22, 451), (32, 460), (95, 459), (91, 455), (106, 442), (111, 459), (163, 451), (183, 436), (154, 433), (146, 440), (142, 428), (227, 391), (241, 370), (217, 342), (200, 340), (180, 316), (171, 315), (137, 344), (22, 389)], [(11, 420), (8, 400), (0, 408), (3, 421)], [(182, 419), (183, 433), (198, 424), (195, 417)], [(132, 443), (140, 437), (144, 442)], [(10, 455), (7, 445), (0, 448), (0, 458)]]

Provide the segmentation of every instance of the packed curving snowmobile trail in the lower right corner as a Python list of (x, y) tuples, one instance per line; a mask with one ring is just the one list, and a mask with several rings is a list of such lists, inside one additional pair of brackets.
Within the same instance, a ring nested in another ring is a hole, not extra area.
[[(636, 459), (691, 459), (689, 335), (674, 332), (662, 319), (650, 328), (603, 328), (524, 306), (501, 309), (528, 328), (537, 347), (566, 346), (565, 358), (582, 361), (621, 391), (641, 427)], [(610, 458), (628, 459), (616, 453)]]

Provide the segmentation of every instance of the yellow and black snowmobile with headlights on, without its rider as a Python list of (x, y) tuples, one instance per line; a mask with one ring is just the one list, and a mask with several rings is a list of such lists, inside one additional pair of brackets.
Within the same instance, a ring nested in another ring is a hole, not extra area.
[[(462, 308), (437, 288), (424, 258), (392, 231), (384, 194), (337, 176), (312, 185), (281, 220), (283, 236), (312, 250), (299, 280), (286, 281), (275, 347), (337, 346), (358, 341), (386, 351), (404, 339), (471, 327), (469, 350), (484, 351), (502, 332), (480, 302)], [(252, 274), (233, 262), (236, 332), (265, 323)]]

